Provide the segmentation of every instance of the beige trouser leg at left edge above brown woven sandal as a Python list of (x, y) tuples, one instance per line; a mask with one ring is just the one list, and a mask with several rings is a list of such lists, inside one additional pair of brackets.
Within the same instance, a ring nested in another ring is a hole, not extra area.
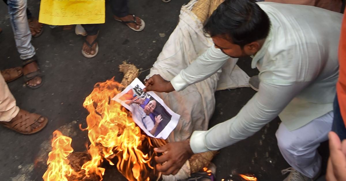
[(0, 121), (9, 122), (19, 112), (16, 99), (8, 89), (5, 79), (0, 73)]

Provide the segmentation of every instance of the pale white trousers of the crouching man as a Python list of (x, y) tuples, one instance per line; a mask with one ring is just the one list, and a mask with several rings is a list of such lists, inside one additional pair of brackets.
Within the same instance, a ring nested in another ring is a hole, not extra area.
[(317, 148), (328, 140), (333, 117), (333, 111), (330, 111), (293, 131), (281, 123), (276, 131), (277, 145), (285, 160), (309, 178), (315, 177), (321, 169), (321, 155)]

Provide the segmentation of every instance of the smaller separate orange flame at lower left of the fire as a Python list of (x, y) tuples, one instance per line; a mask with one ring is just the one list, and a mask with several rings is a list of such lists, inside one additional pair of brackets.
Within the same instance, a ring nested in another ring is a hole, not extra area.
[(73, 152), (72, 139), (60, 131), (53, 132), (52, 151), (48, 154), (48, 169), (43, 175), (44, 181), (67, 181), (66, 176), (78, 175), (69, 165), (67, 156)]

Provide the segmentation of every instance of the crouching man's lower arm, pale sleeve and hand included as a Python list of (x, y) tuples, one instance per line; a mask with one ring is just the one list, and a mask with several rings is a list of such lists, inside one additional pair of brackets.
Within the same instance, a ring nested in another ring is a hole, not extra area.
[[(260, 83), (260, 90), (233, 118), (219, 123), (208, 131), (194, 131), (190, 141), (172, 142), (154, 149), (166, 152), (155, 157), (156, 168), (164, 175), (175, 174), (193, 153), (219, 150), (243, 140), (273, 120), (309, 82), (287, 86)], [(179, 150), (179, 153), (175, 152)], [(183, 158), (183, 159), (182, 159)]]

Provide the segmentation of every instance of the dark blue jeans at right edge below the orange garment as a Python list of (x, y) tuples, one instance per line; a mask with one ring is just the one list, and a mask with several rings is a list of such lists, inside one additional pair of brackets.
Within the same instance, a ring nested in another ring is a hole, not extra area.
[(339, 136), (340, 140), (346, 139), (346, 127), (341, 117), (338, 95), (336, 95), (334, 99), (334, 119), (331, 130)]

